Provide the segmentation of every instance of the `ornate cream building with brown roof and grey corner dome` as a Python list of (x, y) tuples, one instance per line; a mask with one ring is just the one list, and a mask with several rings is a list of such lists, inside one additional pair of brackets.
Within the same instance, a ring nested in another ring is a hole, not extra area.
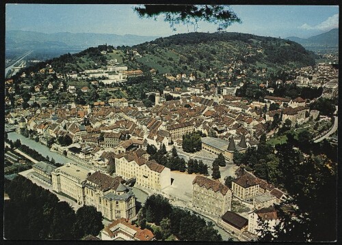
[(84, 199), (86, 205), (96, 207), (108, 220), (131, 219), (135, 216), (135, 196), (122, 177), (111, 177), (96, 171), (86, 179)]

